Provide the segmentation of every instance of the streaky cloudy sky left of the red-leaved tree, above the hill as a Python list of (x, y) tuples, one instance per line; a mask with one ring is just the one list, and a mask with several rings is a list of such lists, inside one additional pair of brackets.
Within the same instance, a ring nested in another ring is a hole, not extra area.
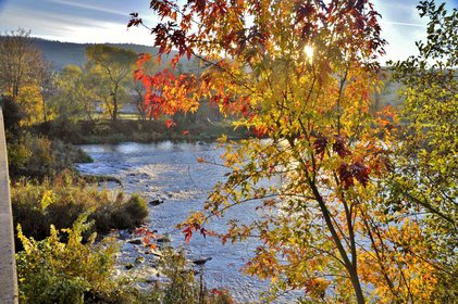
[[(77, 3), (70, 0), (10, 1), (5, 10), (0, 12), (0, 33), (21, 27), (30, 29), (34, 37), (69, 42), (152, 43), (149, 30), (144, 28), (127, 30), (128, 12), (132, 10), (126, 5), (139, 5), (137, 1), (132, 3), (99, 0), (97, 7), (88, 2), (88, 0)], [(149, 5), (145, 5), (146, 12), (149, 11), (148, 8)]]

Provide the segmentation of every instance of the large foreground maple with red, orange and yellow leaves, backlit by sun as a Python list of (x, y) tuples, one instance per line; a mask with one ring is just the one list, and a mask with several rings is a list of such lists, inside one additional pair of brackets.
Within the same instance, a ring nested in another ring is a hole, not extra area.
[[(308, 299), (344, 303), (429, 301), (433, 267), (397, 246), (424, 245), (420, 228), (392, 221), (384, 204), (381, 180), (392, 170), (396, 119), (389, 109), (370, 111), (385, 45), (373, 5), (166, 0), (150, 7), (161, 21), (150, 28), (159, 60), (176, 49), (172, 65), (191, 55), (206, 63), (200, 75), (148, 75), (149, 58), (140, 56), (136, 77), (153, 114), (196, 111), (208, 100), (253, 134), (221, 139), (230, 173), (205, 211), (181, 226), (186, 239), (195, 231), (223, 242), (257, 236), (245, 271), (270, 279), (273, 291), (301, 289)], [(128, 26), (147, 26), (132, 16)], [(259, 218), (230, 220), (226, 233), (207, 230), (236, 205), (256, 208)]]

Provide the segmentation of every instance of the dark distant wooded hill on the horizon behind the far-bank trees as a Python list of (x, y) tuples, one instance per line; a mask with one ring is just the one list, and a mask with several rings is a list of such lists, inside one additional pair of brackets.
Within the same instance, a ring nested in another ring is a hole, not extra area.
[[(39, 38), (33, 38), (34, 45), (41, 51), (46, 60), (52, 62), (52, 67), (61, 71), (67, 64), (76, 64), (82, 66), (86, 63), (86, 48), (95, 43), (72, 43), (51, 41)], [(158, 53), (158, 48), (133, 45), (133, 43), (103, 43), (107, 46), (114, 46), (122, 49), (132, 50), (136, 53), (150, 53), (152, 55)], [(176, 52), (172, 51), (170, 56), (175, 55)], [(191, 62), (187, 60), (180, 61), (185, 71), (191, 69)]]

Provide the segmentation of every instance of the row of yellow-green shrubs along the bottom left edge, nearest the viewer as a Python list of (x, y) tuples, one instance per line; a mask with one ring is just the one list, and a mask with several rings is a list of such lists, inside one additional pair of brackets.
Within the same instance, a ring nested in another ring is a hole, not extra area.
[(170, 249), (163, 251), (159, 263), (160, 271), (170, 279), (139, 289), (136, 281), (115, 275), (115, 239), (95, 242), (96, 233), (84, 237), (92, 230), (86, 219), (83, 214), (67, 229), (51, 225), (49, 237), (41, 241), (26, 237), (18, 226), (24, 248), (16, 255), (21, 303), (234, 303), (224, 291), (206, 290), (183, 253)]

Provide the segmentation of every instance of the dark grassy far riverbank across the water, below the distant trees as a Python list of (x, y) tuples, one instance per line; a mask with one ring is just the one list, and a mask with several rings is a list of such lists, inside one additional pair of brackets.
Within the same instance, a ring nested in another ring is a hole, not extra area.
[(177, 122), (168, 128), (162, 121), (139, 119), (95, 119), (95, 121), (50, 121), (35, 125), (30, 131), (36, 135), (60, 139), (73, 144), (158, 142), (171, 141), (212, 141), (225, 135), (228, 139), (243, 139), (250, 136), (246, 129), (234, 129), (231, 121)]

